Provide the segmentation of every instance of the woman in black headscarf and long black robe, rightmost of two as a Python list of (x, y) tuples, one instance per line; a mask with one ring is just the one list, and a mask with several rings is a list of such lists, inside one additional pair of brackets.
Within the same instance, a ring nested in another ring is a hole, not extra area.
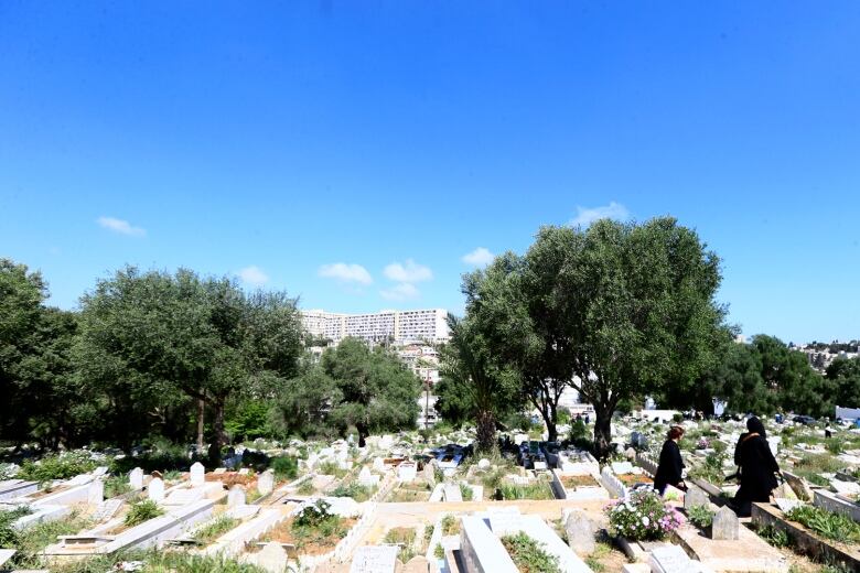
[(733, 506), (740, 517), (749, 517), (753, 501), (767, 502), (777, 486), (780, 466), (767, 443), (764, 424), (755, 417), (746, 421), (748, 433), (741, 435), (734, 448), (734, 463), (740, 466), (741, 487)]

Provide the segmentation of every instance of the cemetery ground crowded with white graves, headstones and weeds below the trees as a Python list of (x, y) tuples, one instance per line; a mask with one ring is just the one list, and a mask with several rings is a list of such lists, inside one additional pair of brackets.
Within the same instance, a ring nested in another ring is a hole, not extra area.
[(676, 415), (617, 418), (604, 463), (534, 429), (499, 436), (488, 456), (473, 452), (469, 429), (431, 430), (374, 435), (361, 448), (257, 441), (227, 451), (221, 467), (165, 444), (10, 450), (0, 570), (858, 570), (860, 430), (835, 425), (828, 439), (823, 426), (767, 421), (786, 483), (775, 504), (739, 520), (724, 507), (737, 489), (725, 476), (743, 421), (680, 421), (692, 487), (663, 500), (648, 493)]

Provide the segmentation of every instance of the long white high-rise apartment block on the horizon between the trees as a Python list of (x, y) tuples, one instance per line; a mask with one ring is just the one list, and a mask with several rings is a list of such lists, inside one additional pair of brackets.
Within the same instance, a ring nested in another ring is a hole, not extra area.
[(302, 324), (313, 336), (337, 344), (347, 336), (370, 343), (390, 340), (398, 345), (441, 343), (449, 338), (444, 309), (380, 311), (338, 314), (320, 310), (301, 311)]

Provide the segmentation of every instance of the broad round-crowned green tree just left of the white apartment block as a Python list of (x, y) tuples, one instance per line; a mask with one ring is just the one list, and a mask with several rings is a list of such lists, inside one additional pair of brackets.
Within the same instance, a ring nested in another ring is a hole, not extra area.
[(202, 401), (213, 412), (213, 462), (226, 441), (228, 400), (241, 392), (270, 397), (294, 372), (300, 352), (295, 301), (246, 294), (226, 278), (128, 267), (82, 298), (79, 355), (104, 365), (90, 372), (93, 381), (115, 391), (125, 386), (132, 396)]

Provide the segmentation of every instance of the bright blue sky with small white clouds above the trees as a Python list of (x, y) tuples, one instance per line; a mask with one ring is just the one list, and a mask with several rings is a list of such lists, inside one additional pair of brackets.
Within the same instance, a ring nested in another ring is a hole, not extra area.
[(0, 256), (459, 311), (479, 248), (671, 214), (745, 334), (860, 337), (860, 3), (459, 4), (0, 2)]

